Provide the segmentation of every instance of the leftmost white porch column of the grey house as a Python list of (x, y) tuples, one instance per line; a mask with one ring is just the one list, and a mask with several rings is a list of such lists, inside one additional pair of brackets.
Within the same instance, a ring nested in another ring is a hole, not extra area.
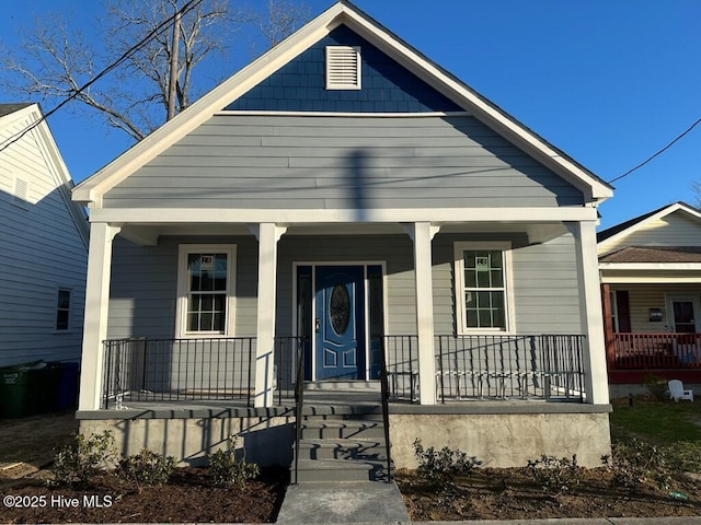
[(85, 317), (80, 372), (80, 410), (99, 410), (102, 397), (103, 341), (107, 338), (112, 241), (119, 228), (105, 222), (90, 225)]

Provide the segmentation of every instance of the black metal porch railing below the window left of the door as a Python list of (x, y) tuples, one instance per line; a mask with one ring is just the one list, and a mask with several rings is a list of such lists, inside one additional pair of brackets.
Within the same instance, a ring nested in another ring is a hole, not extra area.
[(251, 405), (255, 338), (105, 341), (103, 408), (129, 401), (238, 399)]

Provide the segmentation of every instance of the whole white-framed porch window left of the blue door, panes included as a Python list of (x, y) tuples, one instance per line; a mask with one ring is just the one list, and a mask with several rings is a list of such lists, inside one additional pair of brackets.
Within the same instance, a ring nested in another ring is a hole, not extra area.
[(233, 335), (233, 245), (181, 245), (179, 337)]

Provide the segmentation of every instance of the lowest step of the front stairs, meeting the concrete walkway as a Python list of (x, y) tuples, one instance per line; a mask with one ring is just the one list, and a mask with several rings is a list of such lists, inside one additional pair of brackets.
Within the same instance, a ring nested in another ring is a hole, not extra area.
[(299, 459), (297, 476), (290, 467), (292, 483), (320, 481), (383, 481), (387, 463), (354, 459)]

